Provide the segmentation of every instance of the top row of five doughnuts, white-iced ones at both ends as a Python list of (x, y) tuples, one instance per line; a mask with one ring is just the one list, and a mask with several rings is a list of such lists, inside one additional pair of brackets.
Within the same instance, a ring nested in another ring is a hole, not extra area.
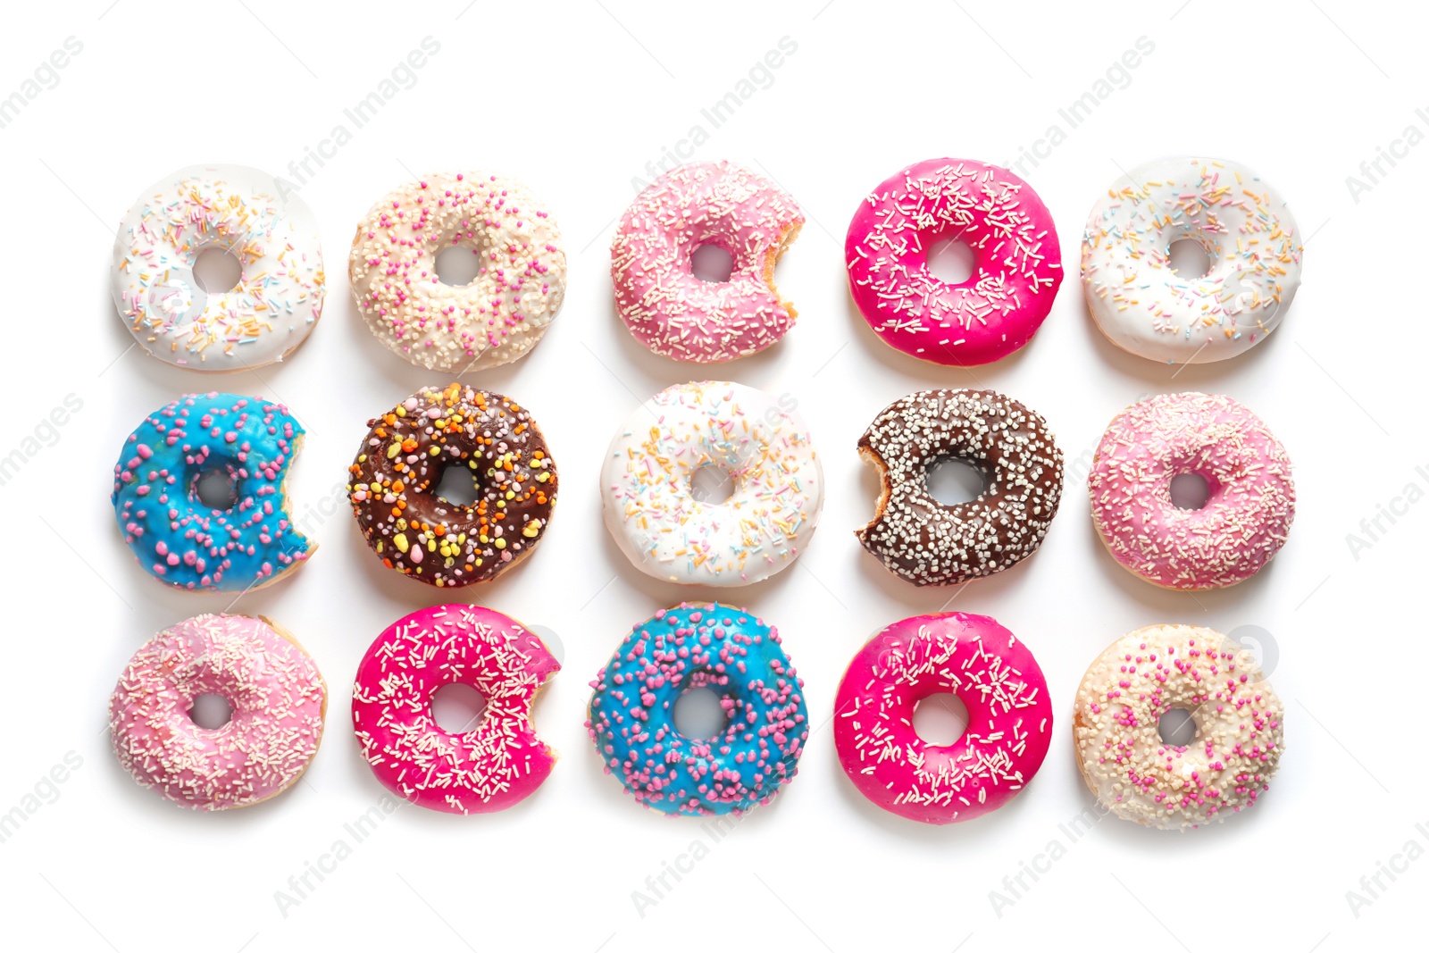
[[(657, 354), (723, 363), (777, 343), (797, 313), (773, 270), (805, 213), (769, 179), (730, 161), (689, 163), (640, 191), (616, 226), (616, 310)], [(1193, 241), (1210, 266), (1183, 276), (1170, 246)], [(972, 250), (973, 271), (947, 283), (929, 253)], [(725, 281), (694, 274), (694, 253), (722, 249)], [(221, 249), (240, 274), (210, 294), (199, 253)], [(476, 277), (440, 280), (437, 254), (464, 249)], [(1087, 307), (1133, 354), (1180, 364), (1225, 360), (1265, 340), (1300, 281), (1303, 244), (1289, 207), (1239, 163), (1185, 157), (1120, 176), (1092, 209), (1082, 240)], [(1015, 173), (932, 159), (859, 203), (846, 241), (849, 291), (877, 337), (939, 364), (973, 366), (1025, 346), (1052, 310), (1062, 251), (1046, 206)], [(560, 310), (566, 253), (550, 210), (520, 181), (434, 174), (382, 197), (359, 221), (347, 259), (357, 309), (392, 351), (463, 373), (517, 360)], [(154, 183), (114, 240), (111, 296), (154, 357), (200, 371), (262, 367), (292, 354), (322, 317), (322, 244), (306, 203), (240, 166), (180, 169)]]

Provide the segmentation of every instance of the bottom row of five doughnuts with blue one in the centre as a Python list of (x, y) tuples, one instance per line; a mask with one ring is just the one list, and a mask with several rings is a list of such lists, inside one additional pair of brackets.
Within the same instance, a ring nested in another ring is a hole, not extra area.
[[(389, 626), (353, 684), (352, 720), (376, 779), (403, 802), (489, 813), (529, 797), (556, 754), (532, 717), (560, 670), (540, 636), (482, 606), (443, 604)], [(476, 724), (432, 714), (443, 686), (486, 697)], [(596, 674), (586, 727), (606, 773), (664, 814), (717, 816), (767, 804), (797, 773), (813, 732), (803, 680), (777, 630), (720, 603), (680, 603), (634, 626)], [(712, 687), (723, 726), (689, 737), (683, 693)], [(967, 707), (953, 744), (913, 729), (940, 692)], [(220, 694), (231, 719), (189, 717)], [(110, 699), (121, 764), (144, 787), (197, 810), (244, 807), (302, 777), (323, 736), (327, 687), (292, 634), (267, 619), (187, 619), (130, 659)], [(1196, 717), (1198, 743), (1157, 734), (1172, 709)], [(1256, 803), (1283, 749), (1280, 699), (1255, 656), (1196, 626), (1147, 626), (1110, 644), (1077, 689), (1073, 742), (1102, 806), (1140, 824), (1185, 830)], [(947, 824), (1006, 804), (1052, 742), (1047, 683), (1027, 644), (987, 616), (936, 613), (893, 623), (855, 654), (840, 682), (835, 747), (855, 787), (909, 820)]]

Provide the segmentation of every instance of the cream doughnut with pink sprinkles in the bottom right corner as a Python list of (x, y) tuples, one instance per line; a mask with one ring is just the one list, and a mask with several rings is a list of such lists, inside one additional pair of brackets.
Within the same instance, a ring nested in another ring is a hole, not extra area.
[[(1196, 723), (1185, 747), (1160, 739), (1172, 709)], [(1103, 807), (1185, 830), (1256, 803), (1285, 750), (1285, 704), (1233, 639), (1200, 626), (1146, 626), (1086, 670), (1073, 733), (1082, 779)]]

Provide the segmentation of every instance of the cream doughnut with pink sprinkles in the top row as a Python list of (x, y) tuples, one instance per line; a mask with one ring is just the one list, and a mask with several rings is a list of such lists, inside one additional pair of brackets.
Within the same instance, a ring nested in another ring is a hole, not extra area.
[[(437, 279), (447, 247), (480, 257), (470, 284)], [(566, 297), (566, 249), (544, 203), (514, 179), (436, 174), (357, 223), (347, 277), (377, 340), (417, 367), (463, 373), (536, 347)]]

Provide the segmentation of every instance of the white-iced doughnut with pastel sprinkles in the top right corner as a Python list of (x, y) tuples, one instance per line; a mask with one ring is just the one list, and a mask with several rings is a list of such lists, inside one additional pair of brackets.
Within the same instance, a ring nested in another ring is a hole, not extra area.
[[(1210, 259), (1179, 276), (1173, 241)], [(1082, 233), (1082, 287), (1106, 339), (1165, 364), (1209, 364), (1276, 329), (1300, 286), (1305, 247), (1285, 200), (1219, 159), (1163, 159), (1120, 176)]]

